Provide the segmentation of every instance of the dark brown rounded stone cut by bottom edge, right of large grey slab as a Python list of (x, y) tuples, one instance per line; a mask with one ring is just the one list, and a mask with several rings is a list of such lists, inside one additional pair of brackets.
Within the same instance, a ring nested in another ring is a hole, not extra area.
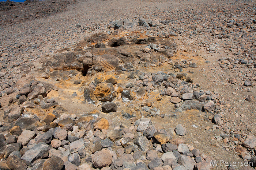
[(61, 158), (53, 156), (49, 159), (46, 159), (44, 162), (43, 170), (62, 170), (64, 162)]

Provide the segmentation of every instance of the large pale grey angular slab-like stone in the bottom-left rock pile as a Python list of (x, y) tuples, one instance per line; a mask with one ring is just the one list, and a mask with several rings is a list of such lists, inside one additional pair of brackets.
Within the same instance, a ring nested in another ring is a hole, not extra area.
[(32, 166), (37, 159), (48, 157), (48, 151), (49, 146), (46, 143), (41, 142), (27, 150), (21, 159), (25, 161), (26, 165)]

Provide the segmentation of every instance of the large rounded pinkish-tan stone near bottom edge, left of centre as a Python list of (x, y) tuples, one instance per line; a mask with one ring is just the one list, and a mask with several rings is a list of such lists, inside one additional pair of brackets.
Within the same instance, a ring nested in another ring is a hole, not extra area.
[(112, 154), (110, 150), (97, 151), (93, 155), (93, 166), (101, 168), (109, 166), (112, 163)]

